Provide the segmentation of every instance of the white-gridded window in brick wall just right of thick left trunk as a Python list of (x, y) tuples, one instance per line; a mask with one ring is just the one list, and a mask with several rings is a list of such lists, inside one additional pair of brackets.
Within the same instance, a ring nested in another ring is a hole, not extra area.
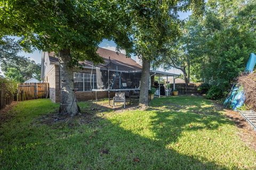
[(74, 73), (74, 87), (77, 91), (91, 91), (92, 88), (97, 89), (96, 74)]

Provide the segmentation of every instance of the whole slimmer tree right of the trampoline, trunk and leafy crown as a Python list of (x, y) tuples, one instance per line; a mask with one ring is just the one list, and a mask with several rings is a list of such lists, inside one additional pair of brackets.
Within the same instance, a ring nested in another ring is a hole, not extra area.
[(204, 1), (128, 1), (134, 53), (142, 60), (139, 104), (148, 105), (150, 64), (158, 60), (166, 43), (180, 35), (178, 11), (202, 11)]

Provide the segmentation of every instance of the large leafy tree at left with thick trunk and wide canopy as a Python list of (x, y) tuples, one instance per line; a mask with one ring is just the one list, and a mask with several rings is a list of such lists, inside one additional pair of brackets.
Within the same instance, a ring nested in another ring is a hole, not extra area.
[[(121, 2), (121, 3), (120, 3)], [(102, 62), (96, 53), (103, 38), (114, 39), (129, 53), (122, 1), (0, 1), (0, 36), (21, 36), (26, 49), (54, 51), (60, 61), (61, 114), (79, 113), (73, 67), (78, 61)], [(126, 48), (127, 47), (127, 48)]]

